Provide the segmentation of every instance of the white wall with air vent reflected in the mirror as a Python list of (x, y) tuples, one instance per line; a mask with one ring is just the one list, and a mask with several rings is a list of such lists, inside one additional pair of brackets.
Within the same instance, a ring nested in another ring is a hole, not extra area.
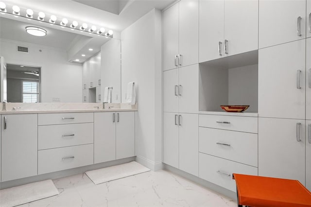
[[(17, 52), (17, 44), (29, 47), (29, 53)], [(7, 64), (41, 67), (41, 102), (82, 102), (82, 65), (69, 63), (66, 51), (3, 39), (0, 45)]]

